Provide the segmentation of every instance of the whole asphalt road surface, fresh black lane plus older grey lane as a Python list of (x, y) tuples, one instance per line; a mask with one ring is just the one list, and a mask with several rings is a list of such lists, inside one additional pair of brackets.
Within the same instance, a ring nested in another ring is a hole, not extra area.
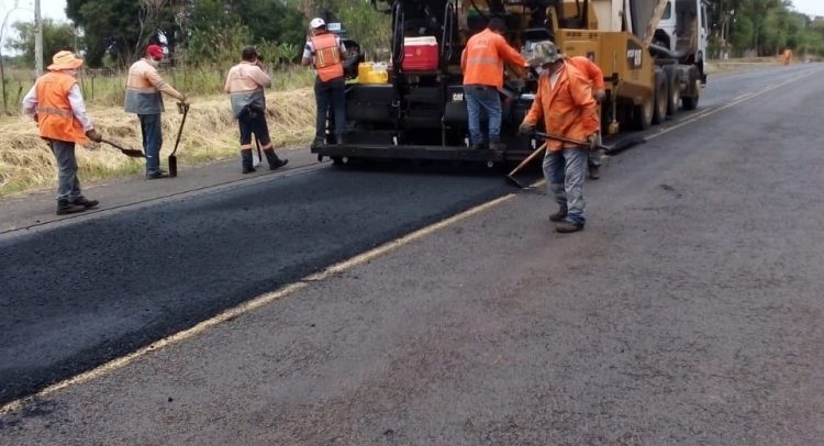
[(711, 77), (588, 182), (571, 235), (482, 169), (305, 150), (162, 199), (110, 185), (78, 219), (0, 202), (0, 444), (817, 444), (822, 74)]

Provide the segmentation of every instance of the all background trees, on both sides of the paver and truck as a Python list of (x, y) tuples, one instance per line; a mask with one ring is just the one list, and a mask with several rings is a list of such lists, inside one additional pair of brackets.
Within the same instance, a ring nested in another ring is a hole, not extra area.
[[(791, 0), (709, 0), (711, 57), (772, 56), (786, 48), (824, 56), (824, 19), (794, 12)], [(338, 20), (347, 36), (374, 56), (389, 45), (389, 18), (369, 0), (68, 0), (71, 23), (43, 22), (44, 55), (85, 54), (89, 67), (123, 67), (149, 43), (163, 43), (176, 63), (225, 64), (256, 44), (268, 62), (300, 58), (313, 16)], [(34, 25), (13, 24), (8, 46), (34, 65)]]

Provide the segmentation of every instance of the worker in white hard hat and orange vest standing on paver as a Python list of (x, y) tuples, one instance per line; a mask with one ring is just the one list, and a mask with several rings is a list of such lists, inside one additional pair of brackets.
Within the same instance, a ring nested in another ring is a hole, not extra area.
[(326, 22), (323, 19), (312, 19), (309, 27), (310, 36), (303, 48), (301, 64), (313, 66), (318, 75), (314, 80), (314, 100), (318, 112), (312, 147), (326, 144), (326, 116), (330, 113), (335, 120), (335, 142), (343, 144), (346, 130), (346, 83), (343, 60), (346, 58), (346, 47), (339, 36), (326, 30)]

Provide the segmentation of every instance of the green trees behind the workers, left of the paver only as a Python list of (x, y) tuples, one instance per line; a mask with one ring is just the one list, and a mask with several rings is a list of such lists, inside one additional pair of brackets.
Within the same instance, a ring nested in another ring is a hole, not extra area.
[[(257, 45), (267, 63), (290, 64), (303, 53), (311, 18), (344, 23), (369, 52), (389, 44), (389, 18), (369, 0), (67, 0), (70, 23), (44, 20), (43, 53), (73, 48), (88, 67), (124, 67), (151, 43), (186, 65), (236, 60)], [(8, 43), (21, 65), (34, 65), (34, 24), (18, 22)]]

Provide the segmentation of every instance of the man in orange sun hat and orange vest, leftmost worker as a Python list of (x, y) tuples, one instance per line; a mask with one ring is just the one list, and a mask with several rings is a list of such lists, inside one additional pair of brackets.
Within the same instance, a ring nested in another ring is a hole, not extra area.
[(80, 191), (75, 144), (102, 141), (86, 114), (77, 70), (83, 64), (71, 52), (52, 57), (48, 73), (41, 76), (23, 98), (23, 113), (34, 118), (40, 137), (45, 140), (57, 160), (57, 215), (82, 212), (98, 205)]

